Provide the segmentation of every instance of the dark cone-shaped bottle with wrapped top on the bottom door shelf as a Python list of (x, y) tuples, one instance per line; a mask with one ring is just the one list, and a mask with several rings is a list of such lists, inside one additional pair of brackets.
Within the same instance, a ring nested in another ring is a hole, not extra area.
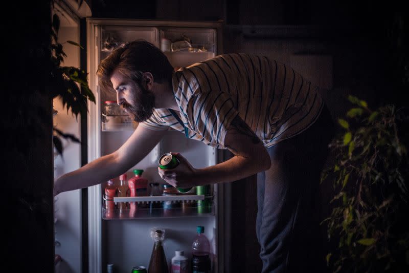
[(152, 228), (150, 237), (155, 242), (150, 256), (148, 273), (168, 273), (168, 263), (163, 249), (163, 241), (165, 240), (165, 230), (161, 228)]

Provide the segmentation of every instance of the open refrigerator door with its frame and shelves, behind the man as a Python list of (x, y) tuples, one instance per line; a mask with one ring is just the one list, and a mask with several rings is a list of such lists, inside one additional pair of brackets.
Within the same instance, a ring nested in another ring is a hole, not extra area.
[[(127, 41), (144, 39), (161, 48), (175, 68), (189, 66), (222, 52), (220, 22), (89, 17), (86, 19), (86, 32), (88, 82), (96, 97), (96, 103), (88, 103), (88, 162), (120, 148), (138, 126), (138, 123), (125, 116), (112, 120), (112, 117), (105, 113), (105, 102), (116, 100), (116, 94), (100, 90), (96, 71), (99, 62), (108, 56), (113, 48), (120, 47)], [(159, 157), (168, 152), (180, 153), (196, 168), (225, 160), (221, 151), (199, 141), (187, 139), (183, 133), (168, 131), (141, 162), (135, 162), (126, 172), (127, 179), (134, 176), (134, 169), (142, 169), (142, 177), (149, 182), (165, 183), (158, 175), (157, 166)], [(118, 177), (112, 179), (116, 185), (119, 184)], [(223, 271), (224, 185), (212, 184), (206, 197), (195, 193), (172, 197), (176, 198), (173, 202), (181, 206), (184, 202), (193, 204), (190, 210), (182, 207), (172, 208), (169, 213), (166, 209), (159, 208), (160, 211), (152, 214), (149, 209), (137, 208), (137, 212), (132, 212), (128, 203), (128, 211), (122, 211), (120, 214), (116, 208), (115, 212), (110, 211), (107, 214), (104, 195), (106, 182), (101, 181), (101, 184), (88, 188), (89, 272), (105, 272), (108, 264), (113, 264), (114, 272), (130, 272), (133, 266), (148, 267), (154, 244), (150, 237), (153, 227), (165, 229), (164, 250), (168, 264), (175, 255), (175, 250), (184, 250), (185, 256), (191, 258), (192, 242), (199, 225), (205, 227), (205, 235), (211, 242), (212, 271)], [(163, 204), (164, 199), (161, 198), (163, 197), (151, 197), (144, 199), (144, 202), (149, 205), (153, 200)], [(200, 198), (210, 200), (206, 211), (198, 211), (198, 208), (194, 207)], [(123, 200), (116, 198), (116, 206)], [(142, 199), (133, 198), (128, 201), (138, 200)]]

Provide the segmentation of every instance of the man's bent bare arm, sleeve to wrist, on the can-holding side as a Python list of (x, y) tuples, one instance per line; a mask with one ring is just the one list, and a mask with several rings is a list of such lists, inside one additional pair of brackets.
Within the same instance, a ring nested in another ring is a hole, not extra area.
[(197, 169), (201, 185), (232, 182), (268, 170), (271, 160), (261, 140), (237, 115), (225, 136), (224, 145), (235, 156), (222, 163)]

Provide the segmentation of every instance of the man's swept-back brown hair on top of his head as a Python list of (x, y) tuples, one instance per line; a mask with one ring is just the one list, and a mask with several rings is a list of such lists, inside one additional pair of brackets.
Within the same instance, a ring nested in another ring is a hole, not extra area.
[(150, 72), (155, 82), (172, 82), (173, 67), (163, 52), (146, 40), (134, 40), (117, 48), (103, 59), (97, 70), (104, 91), (113, 90), (111, 76), (118, 70), (125, 77), (141, 84), (143, 73)]

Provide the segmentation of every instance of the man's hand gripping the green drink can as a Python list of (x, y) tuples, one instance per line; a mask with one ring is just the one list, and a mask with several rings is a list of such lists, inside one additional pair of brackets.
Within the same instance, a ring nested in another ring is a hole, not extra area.
[(197, 170), (179, 153), (170, 154), (179, 159), (179, 165), (169, 170), (157, 167), (161, 178), (174, 187), (188, 188), (197, 185)]

